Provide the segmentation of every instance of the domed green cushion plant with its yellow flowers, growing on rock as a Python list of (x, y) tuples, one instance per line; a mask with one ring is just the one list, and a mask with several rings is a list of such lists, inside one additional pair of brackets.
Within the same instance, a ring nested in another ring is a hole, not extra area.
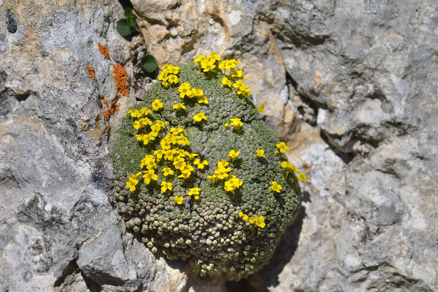
[(179, 82), (162, 74), (131, 108), (113, 147), (114, 189), (126, 227), (152, 252), (239, 280), (267, 264), (300, 199), (239, 61), (216, 56), (168, 65)]

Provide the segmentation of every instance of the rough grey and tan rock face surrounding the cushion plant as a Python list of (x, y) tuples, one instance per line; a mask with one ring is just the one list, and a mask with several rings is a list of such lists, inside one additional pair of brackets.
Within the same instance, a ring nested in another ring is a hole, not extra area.
[[(142, 35), (128, 40), (116, 2), (1, 3), (2, 291), (438, 291), (434, 1), (132, 4)], [(147, 90), (133, 57), (146, 48), (159, 65), (240, 59), (307, 174), (302, 219), (240, 283), (155, 256), (111, 206), (112, 141)], [(116, 98), (115, 62), (130, 94), (108, 124), (96, 118), (100, 96)]]

